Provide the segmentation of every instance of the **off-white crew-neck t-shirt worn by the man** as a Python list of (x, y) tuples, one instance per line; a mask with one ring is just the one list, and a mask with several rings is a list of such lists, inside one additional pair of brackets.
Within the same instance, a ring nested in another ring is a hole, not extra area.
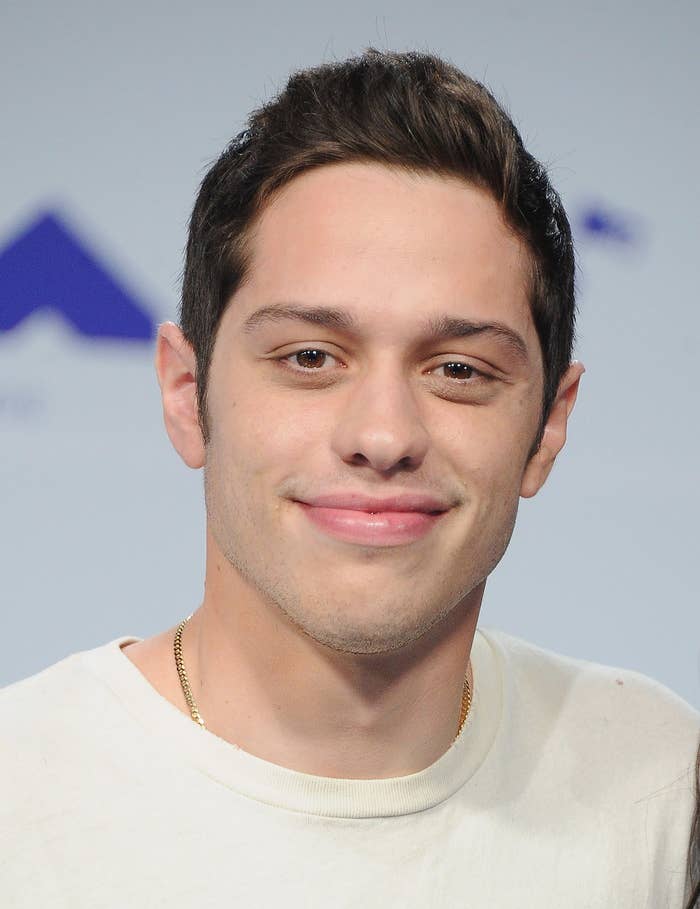
[(0, 692), (3, 909), (680, 909), (700, 716), (480, 629), (457, 741), (338, 780), (201, 729), (122, 637)]

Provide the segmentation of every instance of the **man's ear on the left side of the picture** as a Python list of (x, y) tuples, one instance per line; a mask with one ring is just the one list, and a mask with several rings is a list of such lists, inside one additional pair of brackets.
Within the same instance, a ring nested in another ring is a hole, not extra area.
[(204, 439), (195, 380), (197, 362), (191, 345), (174, 322), (164, 322), (158, 329), (155, 365), (170, 441), (188, 467), (203, 467)]

